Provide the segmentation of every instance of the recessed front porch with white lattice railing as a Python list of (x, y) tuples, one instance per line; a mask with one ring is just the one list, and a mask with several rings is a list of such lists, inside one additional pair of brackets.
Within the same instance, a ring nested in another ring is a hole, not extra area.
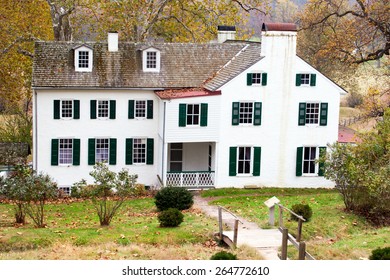
[(169, 143), (166, 186), (215, 186), (215, 143)]

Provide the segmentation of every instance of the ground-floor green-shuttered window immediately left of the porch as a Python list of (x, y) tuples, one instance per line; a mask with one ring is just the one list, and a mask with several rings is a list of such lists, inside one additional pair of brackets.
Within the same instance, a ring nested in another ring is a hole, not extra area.
[(153, 164), (153, 138), (126, 138), (126, 164)]

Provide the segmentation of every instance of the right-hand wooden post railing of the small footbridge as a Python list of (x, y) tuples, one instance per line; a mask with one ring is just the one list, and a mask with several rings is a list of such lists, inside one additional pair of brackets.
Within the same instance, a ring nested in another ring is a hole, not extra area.
[[(282, 233), (282, 252), (280, 255), (280, 259), (287, 260), (287, 247), (288, 241), (290, 241), (291, 244), (293, 244), (294, 247), (298, 249), (298, 260), (315, 260), (315, 258), (306, 251), (305, 241), (302, 241), (302, 225), (303, 222), (305, 222), (306, 220), (302, 216), (288, 209), (287, 207), (284, 207), (282, 204), (276, 203), (276, 205), (279, 206), (279, 231)], [(288, 229), (284, 227), (283, 211), (288, 211), (289, 213), (298, 218), (296, 238), (294, 238), (294, 236), (288, 233)]]

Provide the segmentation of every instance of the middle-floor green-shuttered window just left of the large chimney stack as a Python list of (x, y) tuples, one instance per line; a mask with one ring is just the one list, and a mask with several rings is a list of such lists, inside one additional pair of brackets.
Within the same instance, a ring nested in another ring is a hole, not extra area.
[(232, 125), (261, 125), (261, 102), (233, 102)]

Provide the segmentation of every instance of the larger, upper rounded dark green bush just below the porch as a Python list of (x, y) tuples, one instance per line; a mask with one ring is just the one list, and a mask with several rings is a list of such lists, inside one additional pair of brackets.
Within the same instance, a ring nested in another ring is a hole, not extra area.
[(156, 207), (159, 211), (169, 208), (185, 210), (194, 204), (192, 193), (185, 188), (165, 187), (159, 190), (154, 196)]

